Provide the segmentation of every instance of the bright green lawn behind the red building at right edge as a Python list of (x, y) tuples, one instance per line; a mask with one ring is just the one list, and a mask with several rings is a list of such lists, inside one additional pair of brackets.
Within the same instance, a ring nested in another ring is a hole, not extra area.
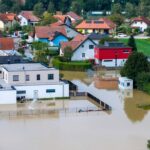
[[(119, 39), (119, 41), (127, 43), (128, 39)], [(136, 45), (139, 52), (150, 56), (150, 39), (136, 39)]]

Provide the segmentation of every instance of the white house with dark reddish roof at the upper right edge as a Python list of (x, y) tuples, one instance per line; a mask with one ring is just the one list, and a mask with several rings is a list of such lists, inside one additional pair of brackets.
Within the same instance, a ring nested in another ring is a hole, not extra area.
[(147, 27), (150, 26), (150, 20), (145, 17), (137, 17), (132, 19), (131, 28), (138, 28), (141, 32), (144, 32)]

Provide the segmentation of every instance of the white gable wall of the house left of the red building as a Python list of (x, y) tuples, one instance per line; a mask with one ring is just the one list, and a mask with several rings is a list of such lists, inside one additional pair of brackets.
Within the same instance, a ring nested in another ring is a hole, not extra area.
[[(82, 47), (82, 45), (84, 45), (84, 47)], [(93, 42), (87, 40), (82, 45), (80, 45), (80, 47), (76, 51), (74, 51), (71, 58), (72, 61), (94, 59), (94, 48), (89, 49), (89, 45), (94, 45)], [(85, 53), (85, 57), (82, 57), (82, 53)]]

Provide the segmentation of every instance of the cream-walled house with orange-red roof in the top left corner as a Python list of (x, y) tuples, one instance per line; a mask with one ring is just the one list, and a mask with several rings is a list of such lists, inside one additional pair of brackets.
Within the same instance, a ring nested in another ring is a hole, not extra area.
[(0, 30), (10, 28), (13, 24), (18, 22), (17, 15), (14, 13), (1, 13), (0, 14)]

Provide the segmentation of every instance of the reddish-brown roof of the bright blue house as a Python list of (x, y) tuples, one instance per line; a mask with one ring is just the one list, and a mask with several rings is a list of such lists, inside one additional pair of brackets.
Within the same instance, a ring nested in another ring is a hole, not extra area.
[(35, 27), (35, 34), (38, 38), (49, 38), (52, 40), (56, 33), (61, 33), (66, 36), (66, 30), (63, 26), (36, 26)]

